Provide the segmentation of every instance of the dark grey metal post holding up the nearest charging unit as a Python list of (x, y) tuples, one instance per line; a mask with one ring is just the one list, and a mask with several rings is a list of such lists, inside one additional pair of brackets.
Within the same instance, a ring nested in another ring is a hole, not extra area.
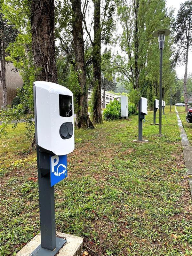
[(50, 186), (50, 154), (39, 149), (37, 147), (41, 247), (53, 251), (56, 248), (56, 228), (54, 186)]

